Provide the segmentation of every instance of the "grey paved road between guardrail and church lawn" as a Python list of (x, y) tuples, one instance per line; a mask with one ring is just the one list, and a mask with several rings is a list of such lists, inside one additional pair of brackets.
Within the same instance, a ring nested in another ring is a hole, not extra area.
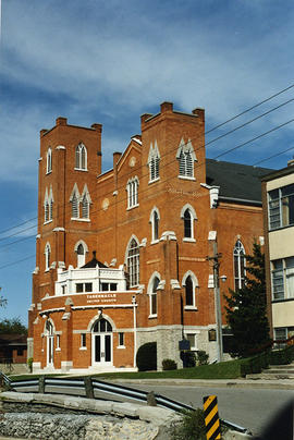
[[(126, 383), (124, 384), (127, 387)], [(146, 391), (152, 390), (167, 398), (192, 404), (195, 407), (203, 405), (203, 398), (205, 395), (216, 394), (218, 396), (220, 417), (248, 428), (255, 436), (261, 435), (264, 428), (267, 427), (284, 405), (291, 401), (294, 404), (293, 390), (185, 388), (158, 384), (136, 384), (134, 387), (134, 383), (130, 384), (130, 387)]]

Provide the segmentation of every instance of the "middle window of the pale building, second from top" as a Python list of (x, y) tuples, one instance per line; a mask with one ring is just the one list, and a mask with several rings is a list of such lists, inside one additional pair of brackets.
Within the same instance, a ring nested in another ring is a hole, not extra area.
[(294, 298), (294, 257), (271, 261), (272, 300)]

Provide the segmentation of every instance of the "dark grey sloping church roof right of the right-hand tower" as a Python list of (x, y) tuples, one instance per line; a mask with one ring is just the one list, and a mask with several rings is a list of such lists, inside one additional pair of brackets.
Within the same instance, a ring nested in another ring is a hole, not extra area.
[(206, 159), (206, 183), (220, 186), (219, 197), (261, 205), (260, 178), (273, 171), (242, 163)]

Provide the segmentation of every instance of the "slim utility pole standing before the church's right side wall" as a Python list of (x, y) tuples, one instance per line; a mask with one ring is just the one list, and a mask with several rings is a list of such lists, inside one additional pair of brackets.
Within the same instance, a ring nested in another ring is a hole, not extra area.
[[(210, 231), (216, 232), (216, 231)], [(216, 313), (216, 325), (217, 325), (217, 346), (218, 346), (218, 362), (222, 362), (223, 357), (223, 344), (222, 344), (222, 319), (221, 319), (221, 302), (220, 302), (220, 258), (221, 254), (218, 253), (218, 242), (217, 233), (212, 234), (213, 239), (213, 256), (207, 257), (208, 261), (213, 264), (213, 286), (215, 286), (215, 313)]]

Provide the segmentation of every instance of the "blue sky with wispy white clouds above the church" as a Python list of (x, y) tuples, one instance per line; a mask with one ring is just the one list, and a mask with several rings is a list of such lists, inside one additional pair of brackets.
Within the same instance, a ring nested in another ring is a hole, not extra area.
[[(103, 124), (103, 170), (160, 102), (206, 109), (209, 130), (291, 86), (292, 0), (0, 0), (0, 319), (27, 321), (35, 268), (39, 131)], [(294, 87), (207, 140), (294, 98)], [(212, 142), (207, 156), (292, 120), (294, 101)], [(294, 147), (289, 123), (221, 160), (254, 164)], [(262, 162), (283, 168), (294, 149)], [(17, 227), (20, 225), (20, 227)], [(14, 228), (13, 227), (17, 227)], [(10, 236), (12, 235), (12, 236)], [(23, 260), (21, 262), (17, 262)]]

